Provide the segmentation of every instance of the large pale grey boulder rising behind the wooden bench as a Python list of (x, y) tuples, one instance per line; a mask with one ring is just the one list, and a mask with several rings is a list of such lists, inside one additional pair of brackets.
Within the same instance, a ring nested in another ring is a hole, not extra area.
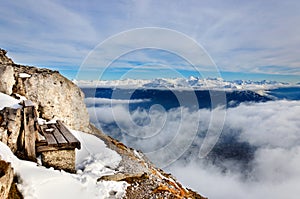
[(89, 131), (83, 92), (58, 71), (15, 64), (0, 49), (0, 92), (33, 101), (41, 118), (64, 118), (72, 129)]

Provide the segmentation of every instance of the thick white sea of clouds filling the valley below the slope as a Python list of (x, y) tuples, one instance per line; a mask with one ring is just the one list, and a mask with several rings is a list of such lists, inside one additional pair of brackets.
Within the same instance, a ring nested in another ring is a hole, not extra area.
[[(215, 111), (221, 114), (224, 110)], [(109, 130), (121, 134), (121, 141), (142, 150), (184, 185), (209, 198), (300, 196), (300, 101), (243, 103), (226, 110), (222, 137), (235, 137), (255, 149), (247, 171), (236, 159), (225, 160), (224, 170), (199, 158), (203, 138), (213, 123), (209, 109), (166, 111), (154, 105), (149, 111), (129, 113), (127, 105), (116, 103), (90, 107), (89, 113), (91, 121), (104, 131), (114, 123)], [(191, 146), (193, 158), (182, 158)]]

